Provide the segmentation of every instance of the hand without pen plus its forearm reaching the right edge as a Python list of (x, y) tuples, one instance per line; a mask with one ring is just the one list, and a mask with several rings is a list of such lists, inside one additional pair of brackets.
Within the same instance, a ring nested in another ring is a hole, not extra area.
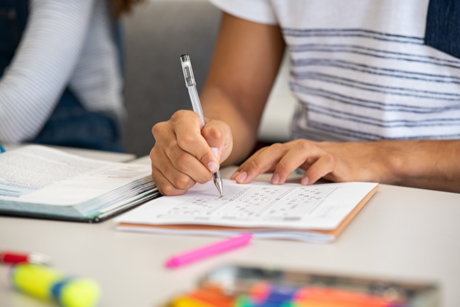
[(375, 142), (313, 142), (295, 140), (264, 147), (247, 159), (231, 179), (249, 183), (273, 172), (272, 184), (283, 184), (297, 167), (306, 170), (302, 184), (320, 178), (333, 182), (366, 181), (460, 191), (457, 140), (388, 140)]

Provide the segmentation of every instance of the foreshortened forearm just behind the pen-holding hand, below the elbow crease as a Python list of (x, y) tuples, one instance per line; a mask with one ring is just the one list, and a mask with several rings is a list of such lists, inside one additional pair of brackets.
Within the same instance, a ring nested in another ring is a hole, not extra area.
[(218, 86), (206, 85), (200, 95), (206, 118), (225, 122), (232, 129), (233, 150), (222, 166), (240, 163), (247, 158), (256, 143), (260, 119), (248, 118), (238, 108), (234, 98)]

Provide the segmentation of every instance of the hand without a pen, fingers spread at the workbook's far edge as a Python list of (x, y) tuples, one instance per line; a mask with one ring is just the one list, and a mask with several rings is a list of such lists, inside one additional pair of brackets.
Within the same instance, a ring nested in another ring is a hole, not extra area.
[(270, 171), (273, 172), (272, 184), (284, 184), (289, 174), (299, 167), (306, 170), (301, 180), (303, 185), (311, 185), (321, 177), (333, 182), (387, 182), (389, 167), (379, 158), (382, 157), (379, 151), (382, 151), (382, 142), (329, 143), (299, 139), (277, 143), (257, 151), (241, 164), (231, 179), (249, 183), (259, 174)]

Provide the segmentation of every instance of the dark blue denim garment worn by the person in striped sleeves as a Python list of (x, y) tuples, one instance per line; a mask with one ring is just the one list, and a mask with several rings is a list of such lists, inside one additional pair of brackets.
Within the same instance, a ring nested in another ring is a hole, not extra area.
[[(13, 59), (28, 14), (28, 0), (0, 0), (0, 78)], [(120, 135), (111, 117), (87, 111), (67, 87), (38, 136), (27, 142), (122, 151)]]

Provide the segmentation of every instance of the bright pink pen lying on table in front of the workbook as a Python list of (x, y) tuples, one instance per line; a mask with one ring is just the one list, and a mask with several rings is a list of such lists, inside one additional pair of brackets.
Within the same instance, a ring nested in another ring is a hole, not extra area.
[(177, 268), (190, 262), (194, 262), (206, 257), (214, 256), (229, 250), (236, 249), (238, 247), (249, 244), (252, 239), (252, 234), (243, 233), (239, 236), (232, 237), (221, 242), (211, 244), (190, 252), (185, 252), (179, 255), (172, 256), (166, 261), (165, 266), (167, 268)]

